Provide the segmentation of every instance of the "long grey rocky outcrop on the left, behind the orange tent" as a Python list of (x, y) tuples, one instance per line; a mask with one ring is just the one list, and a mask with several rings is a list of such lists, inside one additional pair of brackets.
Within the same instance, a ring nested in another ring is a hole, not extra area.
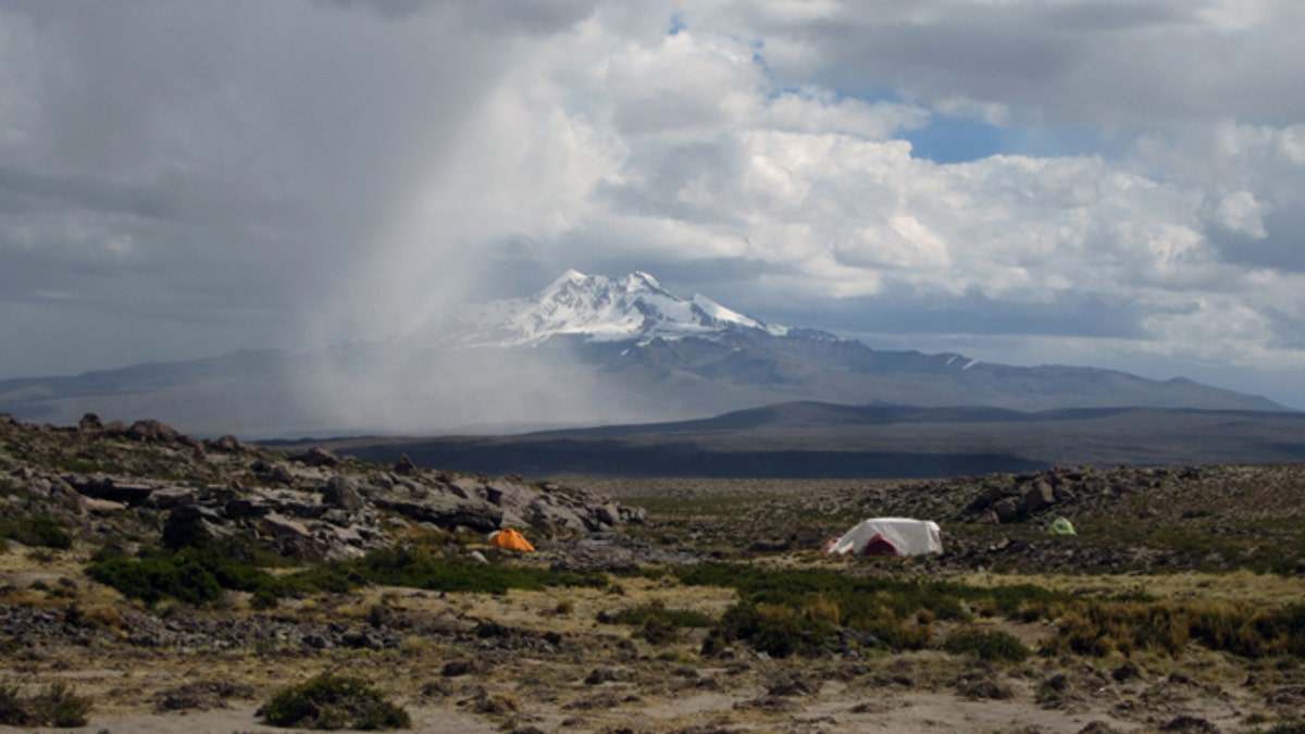
[(8, 422), (5, 431), (18, 434), (18, 444), (48, 444), (43, 456), (67, 452), (72, 468), (0, 465), (21, 491), (63, 503), (82, 525), (138, 511), (130, 517), (157, 519), (153, 530), (172, 547), (241, 537), (287, 556), (352, 558), (412, 524), (475, 533), (515, 526), (545, 539), (645, 520), (639, 508), (557, 483), (403, 461), (377, 466), (322, 448), (282, 455), (234, 436), (201, 443), (157, 421), (103, 426), (87, 414), (74, 430)]

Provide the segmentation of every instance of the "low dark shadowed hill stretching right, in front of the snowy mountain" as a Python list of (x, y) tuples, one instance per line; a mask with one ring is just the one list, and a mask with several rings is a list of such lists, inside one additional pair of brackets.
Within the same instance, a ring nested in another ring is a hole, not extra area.
[(1305, 462), (1305, 413), (792, 402), (702, 421), (515, 436), (363, 438), (341, 453), (484, 474), (911, 478), (1051, 466)]

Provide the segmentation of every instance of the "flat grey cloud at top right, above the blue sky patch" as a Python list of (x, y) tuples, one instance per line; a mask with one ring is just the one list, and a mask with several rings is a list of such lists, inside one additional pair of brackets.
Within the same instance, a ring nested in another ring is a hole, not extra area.
[[(1287, 59), (1300, 60), (1296, 29), (1305, 8), (1272, 4), (1274, 21), (1259, 25), (1259, 7), (847, 4), (809, 20), (769, 16), (761, 54), (782, 78), (810, 73), (855, 93), (894, 89), (934, 104), (997, 104), (1024, 123), (1300, 119), (1305, 80)], [(778, 40), (821, 52), (814, 61), (790, 57)]]

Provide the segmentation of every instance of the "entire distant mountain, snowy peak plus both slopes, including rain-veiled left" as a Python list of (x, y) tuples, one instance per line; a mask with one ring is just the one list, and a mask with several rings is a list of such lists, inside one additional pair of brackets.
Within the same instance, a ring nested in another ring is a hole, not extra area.
[(147, 415), (251, 438), (638, 423), (792, 401), (1287, 410), (1186, 379), (876, 350), (683, 299), (647, 273), (574, 270), (534, 296), (461, 306), (385, 338), (0, 381), (0, 411), (23, 421)]

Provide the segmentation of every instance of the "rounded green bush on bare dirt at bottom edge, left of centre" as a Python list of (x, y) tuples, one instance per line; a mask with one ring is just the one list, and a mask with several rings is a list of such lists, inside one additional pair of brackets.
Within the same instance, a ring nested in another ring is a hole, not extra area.
[(256, 712), (273, 726), (300, 729), (407, 729), (412, 718), (365, 680), (321, 674), (279, 691)]

